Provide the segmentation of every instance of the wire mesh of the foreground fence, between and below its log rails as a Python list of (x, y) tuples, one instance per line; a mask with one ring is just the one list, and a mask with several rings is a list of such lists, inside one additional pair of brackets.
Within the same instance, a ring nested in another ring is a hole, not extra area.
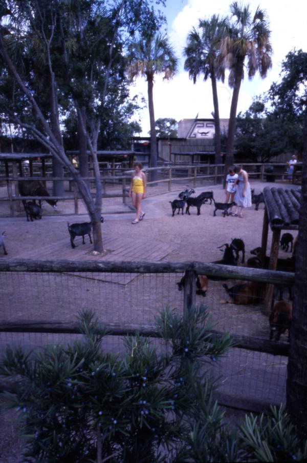
[[(1, 270), (0, 318), (3, 326), (11, 321), (20, 326), (30, 321), (37, 325), (40, 321), (58, 320), (75, 323), (82, 310), (92, 310), (104, 324), (134, 324), (141, 331), (142, 326), (153, 325), (155, 317), (167, 306), (183, 313), (185, 291), (179, 291), (177, 286), (184, 275), (183, 269), (149, 272), (149, 267), (147, 269), (144, 264), (140, 271), (135, 268), (131, 272), (125, 269), (120, 272), (102, 272), (98, 269), (94, 272), (72, 272), (69, 267), (66, 270), (63, 268), (61, 272)], [(244, 277), (246, 275), (239, 275), (238, 270), (235, 275), (229, 276), (232, 281), (235, 278), (233, 283), (242, 283)], [(207, 296), (195, 295), (196, 304), (204, 303), (207, 306), (214, 329), (268, 342), (270, 326), (264, 310), (265, 286), (262, 284), (258, 300), (253, 300), (253, 304), (236, 305), (225, 303), (229, 297), (223, 284), (221, 281), (209, 280)], [(25, 348), (38, 348), (46, 343), (71, 342), (80, 336), (59, 332), (42, 333), (39, 328), (22, 332), (20, 326), (20, 332), (0, 332), (2, 352), (6, 345), (20, 344)], [(286, 338), (283, 336), (281, 339), (284, 341)], [(155, 342), (160, 341), (156, 339)], [(109, 351), (122, 352), (122, 336), (106, 336), (103, 347)], [(274, 403), (285, 399), (287, 356), (233, 348), (216, 365), (215, 370), (216, 374), (221, 375), (220, 391), (223, 393)]]

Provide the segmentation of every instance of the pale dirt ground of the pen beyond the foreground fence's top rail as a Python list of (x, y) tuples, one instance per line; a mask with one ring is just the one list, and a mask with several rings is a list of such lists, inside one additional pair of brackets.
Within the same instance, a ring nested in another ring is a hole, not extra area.
[[(259, 182), (251, 182), (251, 186), (255, 188), (255, 193), (259, 193), (266, 186), (292, 188), (289, 184), (261, 184)], [(131, 225), (135, 213), (130, 211), (127, 206), (122, 210), (122, 205), (119, 202), (121, 213), (116, 213), (113, 212), (114, 208), (112, 211), (111, 207), (105, 205), (104, 224), (102, 226), (104, 248), (107, 251), (105, 255), (93, 256), (90, 252), (93, 248), (88, 243), (87, 238), (84, 246), (81, 245), (81, 238), (76, 238), (78, 247), (75, 250), (70, 246), (67, 222), (85, 221), (87, 220), (86, 215), (72, 218), (72, 216), (67, 215), (45, 214), (41, 220), (37, 220), (35, 223), (27, 222), (23, 214), (17, 217), (0, 218), (0, 232), (6, 232), (8, 251), (8, 256), (4, 256), (3, 250), (0, 249), (0, 259), (8, 257), (210, 262), (222, 257), (222, 252), (217, 249), (218, 246), (230, 243), (232, 238), (244, 240), (246, 259), (248, 259), (251, 256), (250, 250), (261, 244), (264, 205), (261, 204), (258, 211), (254, 210), (254, 206), (246, 209), (244, 218), (223, 217), (221, 211), (217, 211), (214, 217), (214, 204), (210, 205), (210, 202), (202, 206), (200, 216), (196, 215), (196, 208), (191, 208), (191, 215), (178, 215), (176, 213), (172, 217), (169, 202), (178, 198), (178, 193), (189, 187), (191, 186), (179, 186), (176, 191), (164, 194), (161, 194), (159, 187), (149, 187), (148, 197), (143, 201), (143, 210), (146, 215), (138, 225)], [(225, 193), (221, 186), (198, 186), (195, 188), (195, 195), (209, 190), (213, 190), (216, 202), (224, 202)], [(113, 201), (114, 205), (115, 200)], [(293, 234), (295, 235), (295, 233)], [(267, 254), (270, 252), (270, 244), (271, 231), (269, 231)], [(279, 255), (289, 257), (290, 254), (280, 250)], [(35, 310), (33, 309), (34, 316)], [(11, 420), (11, 415), (0, 409), (1, 463), (19, 463), (22, 461), (18, 456), (18, 449), (22, 446), (22, 441), (19, 439), (16, 441), (15, 426), (14, 420)], [(12, 445), (13, 441), (14, 445)]]

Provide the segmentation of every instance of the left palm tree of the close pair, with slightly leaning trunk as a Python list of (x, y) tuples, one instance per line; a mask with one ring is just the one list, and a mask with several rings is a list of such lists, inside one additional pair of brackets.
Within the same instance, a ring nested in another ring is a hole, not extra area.
[(195, 28), (189, 33), (184, 54), (187, 57), (184, 69), (189, 72), (189, 77), (195, 84), (199, 74), (204, 75), (204, 80), (211, 79), (214, 120), (215, 120), (215, 164), (221, 162), (221, 131), (220, 112), (218, 110), (218, 98), (216, 80), (224, 82), (225, 68), (217, 65), (217, 55), (220, 50), (221, 40), (226, 35), (226, 18), (213, 15), (210, 19), (200, 19), (200, 31)]

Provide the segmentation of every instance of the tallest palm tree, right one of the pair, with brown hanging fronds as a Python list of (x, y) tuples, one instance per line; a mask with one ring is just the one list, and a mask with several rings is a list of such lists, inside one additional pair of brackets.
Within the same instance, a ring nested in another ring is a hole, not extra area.
[(233, 164), (233, 146), (235, 135), (236, 111), (240, 85), (244, 78), (244, 67), (249, 79), (257, 71), (262, 78), (266, 77), (272, 66), (270, 33), (267, 15), (259, 7), (252, 16), (249, 5), (233, 2), (230, 5), (232, 14), (227, 37), (221, 41), (221, 53), (218, 59), (229, 69), (229, 86), (233, 88), (228, 126), (225, 172)]

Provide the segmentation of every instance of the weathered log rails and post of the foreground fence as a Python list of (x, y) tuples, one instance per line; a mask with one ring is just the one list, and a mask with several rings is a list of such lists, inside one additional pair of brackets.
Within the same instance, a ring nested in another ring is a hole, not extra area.
[[(294, 284), (294, 274), (274, 270), (233, 267), (218, 264), (204, 264), (198, 261), (156, 262), (156, 261), (84, 261), (84, 260), (32, 260), (32, 259), (1, 259), (0, 272), (34, 272), (34, 273), (182, 273), (185, 272), (184, 308), (189, 310), (195, 305), (195, 276), (204, 274), (210, 277), (226, 277), (249, 281), (260, 281), (267, 284)], [(112, 335), (135, 334), (160, 336), (151, 325), (131, 325), (109, 323), (103, 325)], [(61, 321), (0, 320), (0, 331), (6, 332), (43, 332), (43, 333), (80, 333), (77, 324)], [(217, 336), (223, 333), (215, 332)], [(288, 344), (275, 343), (265, 339), (234, 335), (236, 347), (266, 352), (274, 355), (288, 355)]]

